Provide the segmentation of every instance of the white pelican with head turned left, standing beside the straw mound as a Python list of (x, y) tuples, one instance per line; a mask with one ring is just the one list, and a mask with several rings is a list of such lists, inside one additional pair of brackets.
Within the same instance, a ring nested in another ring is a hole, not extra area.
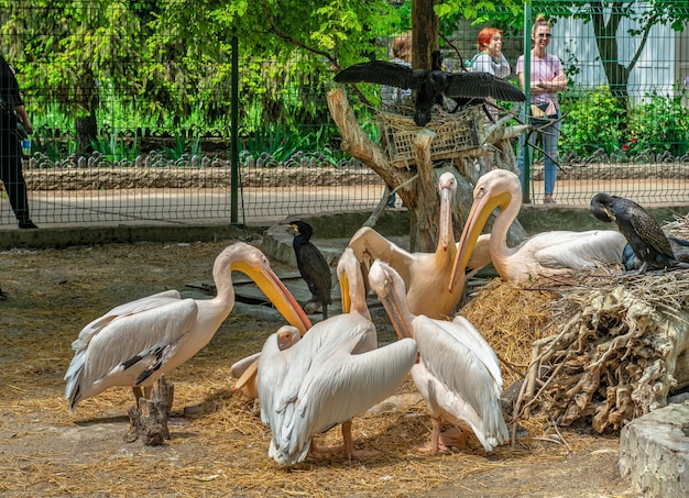
[(412, 367), (412, 377), (433, 418), (426, 450), (447, 450), (440, 443), (442, 420), (469, 428), (486, 452), (505, 443), (510, 434), (500, 406), (500, 363), (485, 339), (460, 316), (450, 322), (412, 314), (404, 281), (380, 259), (369, 272), (369, 284), (397, 335), (416, 340), (419, 362)]

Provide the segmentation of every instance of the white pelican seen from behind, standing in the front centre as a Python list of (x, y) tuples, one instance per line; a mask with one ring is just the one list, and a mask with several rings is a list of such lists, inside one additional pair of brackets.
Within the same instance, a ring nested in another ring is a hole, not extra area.
[(344, 455), (359, 456), (352, 450), (351, 419), (393, 395), (416, 358), (412, 339), (378, 348), (351, 250), (340, 257), (338, 277), (349, 312), (316, 323), (284, 351), (273, 334), (261, 351), (261, 420), (271, 428), (269, 455), (281, 465), (322, 454), (313, 438), (337, 424), (342, 424)]

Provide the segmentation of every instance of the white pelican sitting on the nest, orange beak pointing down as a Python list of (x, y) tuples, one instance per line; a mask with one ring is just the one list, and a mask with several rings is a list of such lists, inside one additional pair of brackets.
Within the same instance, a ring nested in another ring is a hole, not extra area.
[(473, 189), (473, 204), (459, 241), (450, 283), (466, 267), (479, 233), (497, 207), (501, 211), (493, 222), (489, 246), (493, 266), (503, 280), (570, 275), (597, 264), (622, 264), (626, 240), (614, 230), (544, 232), (516, 247), (507, 247), (507, 230), (522, 207), (522, 186), (514, 173), (493, 169), (480, 177)]

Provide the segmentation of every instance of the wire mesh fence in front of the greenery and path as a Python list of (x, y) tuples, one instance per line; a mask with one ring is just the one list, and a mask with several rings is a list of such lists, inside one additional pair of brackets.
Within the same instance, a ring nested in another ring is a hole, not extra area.
[[(181, 40), (169, 24), (151, 27), (160, 5), (64, 3), (75, 9), (67, 14), (62, 3), (1, 2), (0, 53), (34, 128), (23, 173), (36, 224), (225, 223), (233, 214), (240, 223), (256, 222), (373, 209), (384, 195), (381, 178), (339, 151), (325, 98), (331, 73), (306, 75), (297, 59), (261, 59), (241, 40), (238, 54), (195, 52), (196, 41)], [(642, 203), (689, 203), (686, 24), (675, 30), (655, 20), (646, 30), (643, 22), (658, 2), (631, 2), (638, 15), (603, 10), (603, 25), (617, 16), (619, 25), (597, 32), (597, 3), (532, 3), (534, 13), (551, 19), (550, 51), (570, 79), (560, 96), (557, 201), (588, 206), (608, 191)], [(682, 9), (682, 2), (665, 3)], [(501, 15), (493, 23), (503, 29), (514, 68), (523, 30), (514, 14)], [(460, 24), (444, 36), (446, 69), (460, 70), (471, 58), (480, 27)], [(94, 36), (99, 43), (85, 43)], [(389, 40), (375, 41), (374, 51), (386, 58)], [(375, 137), (374, 110), (350, 93)], [(0, 150), (3, 165), (7, 151)], [(537, 156), (529, 201), (542, 201), (542, 182)], [(15, 226), (3, 186), (0, 226)]]

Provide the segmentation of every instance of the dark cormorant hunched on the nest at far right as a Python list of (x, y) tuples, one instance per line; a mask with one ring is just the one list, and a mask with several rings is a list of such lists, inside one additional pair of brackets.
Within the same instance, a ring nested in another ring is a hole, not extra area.
[(677, 261), (670, 242), (655, 218), (636, 202), (597, 193), (591, 199), (591, 212), (601, 221), (614, 221), (617, 224), (636, 257), (643, 262), (639, 274), (647, 269), (689, 268), (689, 264)]

